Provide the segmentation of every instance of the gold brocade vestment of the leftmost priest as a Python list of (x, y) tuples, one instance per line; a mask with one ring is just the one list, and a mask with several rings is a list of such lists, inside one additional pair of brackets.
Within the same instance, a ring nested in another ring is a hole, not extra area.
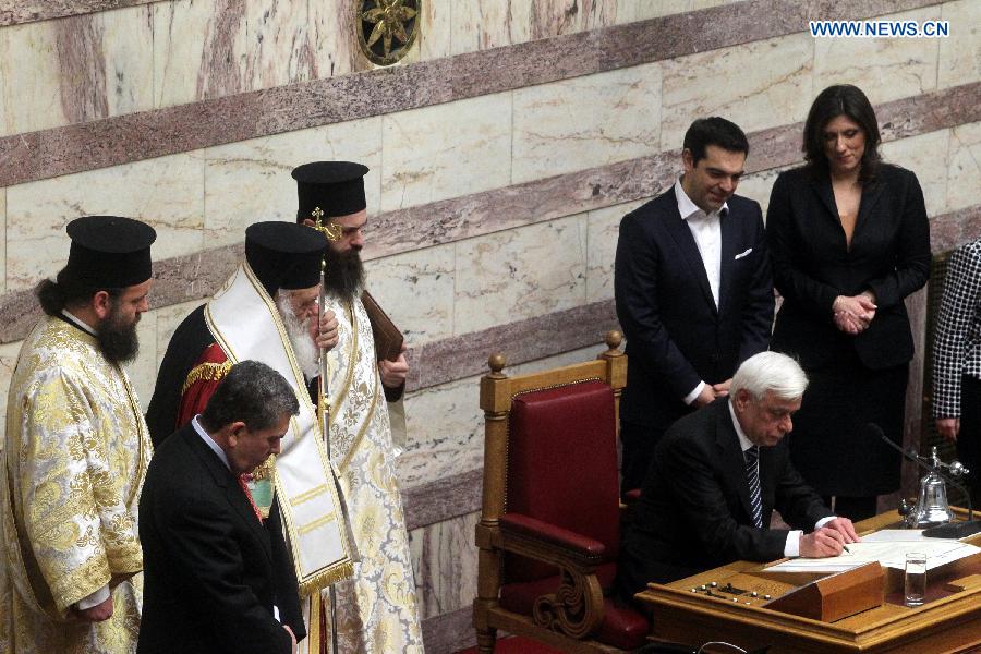
[[(0, 652), (136, 651), (150, 448), (123, 370), (78, 327), (41, 319), (21, 348), (0, 455)], [(75, 619), (106, 584), (112, 617)]]

